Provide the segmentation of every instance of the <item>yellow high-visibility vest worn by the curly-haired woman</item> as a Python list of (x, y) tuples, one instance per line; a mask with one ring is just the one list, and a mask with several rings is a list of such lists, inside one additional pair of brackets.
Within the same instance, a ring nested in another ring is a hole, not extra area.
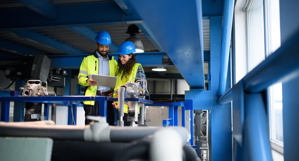
[[(114, 88), (113, 97), (117, 97), (118, 88), (121, 85), (125, 85), (126, 83), (128, 83), (128, 81), (131, 81), (131, 78), (135, 78), (136, 77), (138, 66), (141, 66), (141, 64), (135, 63), (133, 65), (132, 72), (129, 75), (129, 77), (128, 77), (127, 80), (126, 80), (126, 78), (123, 78), (122, 80), (120, 80), (121, 79), (121, 75), (123, 74), (123, 71), (121, 72), (121, 74), (117, 75), (116, 87)], [(141, 66), (141, 68), (142, 68), (142, 66)], [(143, 68), (142, 68), (142, 70), (143, 70)], [(125, 82), (125, 80), (126, 80), (126, 82)], [(135, 79), (132, 79), (132, 82), (135, 82)], [(118, 102), (115, 102), (115, 103), (118, 104)], [(124, 104), (124, 112), (128, 113), (128, 104), (127, 103)], [(138, 113), (139, 113), (139, 106), (138, 106)]]

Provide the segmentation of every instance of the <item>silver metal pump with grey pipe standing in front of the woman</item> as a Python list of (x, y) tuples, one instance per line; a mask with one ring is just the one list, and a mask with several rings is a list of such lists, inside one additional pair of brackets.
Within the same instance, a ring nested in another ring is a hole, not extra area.
[[(137, 80), (136, 83), (132, 82), (132, 79), (140, 79)], [(141, 88), (140, 84), (137, 82), (143, 81), (143, 88)], [(118, 89), (118, 115), (120, 116), (120, 120), (118, 121), (118, 126), (123, 126), (123, 116), (124, 116), (124, 97), (125, 92), (127, 92), (127, 98), (142, 98), (144, 96), (148, 96), (149, 93), (147, 91), (146, 80), (141, 78), (131, 78), (131, 80), (125, 84), (121, 85)], [(130, 121), (130, 126), (135, 127), (135, 121), (138, 121), (138, 101), (128, 101), (128, 120)], [(142, 108), (142, 107), (141, 107)], [(144, 108), (144, 106), (143, 106)], [(144, 109), (140, 111), (140, 113), (144, 113)], [(144, 115), (143, 115), (144, 116)]]

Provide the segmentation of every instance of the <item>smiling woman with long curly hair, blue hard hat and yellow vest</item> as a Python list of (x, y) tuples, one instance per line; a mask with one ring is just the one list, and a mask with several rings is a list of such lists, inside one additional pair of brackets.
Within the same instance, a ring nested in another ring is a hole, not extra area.
[[(117, 80), (116, 80), (116, 87), (114, 88), (113, 97), (117, 97), (118, 88), (121, 85), (125, 85), (131, 78), (145, 78), (145, 74), (141, 64), (137, 63), (136, 55), (133, 53), (135, 52), (135, 46), (131, 41), (125, 41), (120, 44), (118, 51), (116, 51), (118, 55), (118, 65), (116, 68)], [(132, 79), (132, 82), (136, 82), (136, 79)], [(143, 88), (143, 82), (138, 82), (141, 87)], [(118, 108), (118, 102), (114, 102), (113, 106)], [(139, 111), (138, 111), (139, 113)], [(127, 121), (128, 117), (128, 105), (124, 105), (124, 126), (129, 126), (130, 122)]]

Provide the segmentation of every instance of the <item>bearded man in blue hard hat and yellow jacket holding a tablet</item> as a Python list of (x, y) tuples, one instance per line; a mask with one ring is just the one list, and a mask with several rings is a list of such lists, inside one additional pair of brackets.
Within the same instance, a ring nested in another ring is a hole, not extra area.
[[(95, 38), (97, 41), (97, 50), (93, 54), (84, 57), (78, 75), (79, 84), (86, 86), (84, 96), (112, 96), (112, 89), (110, 87), (93, 86), (98, 82), (89, 78), (91, 74), (115, 76), (117, 62), (114, 57), (109, 56), (109, 45), (112, 43), (108, 32), (100, 31)], [(87, 115), (98, 115), (98, 104), (94, 101), (84, 101), (85, 111), (85, 125), (89, 124), (91, 120), (86, 119)], [(112, 101), (107, 101), (107, 122), (109, 125), (114, 125), (114, 109)]]

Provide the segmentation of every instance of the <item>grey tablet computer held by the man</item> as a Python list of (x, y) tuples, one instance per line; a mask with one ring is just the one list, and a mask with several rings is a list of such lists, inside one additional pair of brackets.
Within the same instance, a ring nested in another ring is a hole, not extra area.
[(103, 87), (112, 87), (116, 86), (116, 76), (103, 76), (97, 74), (91, 74), (91, 78), (96, 80), (98, 83), (93, 86), (103, 86)]

